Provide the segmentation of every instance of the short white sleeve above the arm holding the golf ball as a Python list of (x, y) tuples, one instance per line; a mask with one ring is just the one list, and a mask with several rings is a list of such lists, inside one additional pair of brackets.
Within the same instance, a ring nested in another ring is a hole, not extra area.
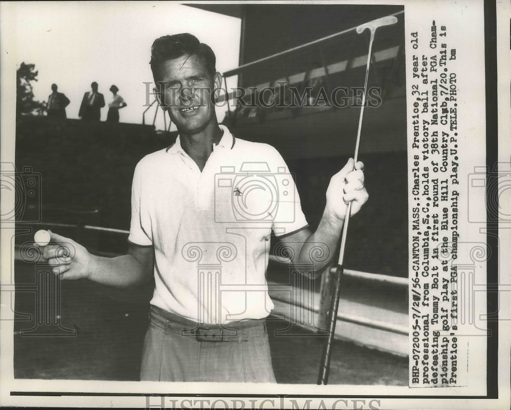
[[(131, 186), (131, 226), (128, 236), (128, 242), (138, 246), (152, 246), (152, 234), (147, 218), (147, 209), (145, 204), (148, 198), (142, 198), (143, 167), (141, 163), (135, 168), (133, 173), (133, 183)], [(147, 195), (147, 194), (146, 194)]]

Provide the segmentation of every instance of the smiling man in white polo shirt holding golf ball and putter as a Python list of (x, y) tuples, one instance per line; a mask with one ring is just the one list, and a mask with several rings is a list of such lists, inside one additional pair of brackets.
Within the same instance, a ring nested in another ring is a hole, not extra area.
[[(211, 48), (191, 34), (158, 38), (151, 69), (179, 136), (136, 166), (128, 254), (93, 256), (52, 233), (57, 244), (43, 247), (43, 256), (62, 279), (128, 287), (154, 276), (141, 380), (274, 382), (265, 326), (273, 308), (265, 279), (270, 235), (292, 264), (319, 274), (346, 204), (355, 214), (368, 198), (363, 164), (350, 159), (332, 177), (311, 232), (282, 156), (218, 124), (221, 75)], [(74, 248), (72, 256), (59, 257), (62, 247)]]

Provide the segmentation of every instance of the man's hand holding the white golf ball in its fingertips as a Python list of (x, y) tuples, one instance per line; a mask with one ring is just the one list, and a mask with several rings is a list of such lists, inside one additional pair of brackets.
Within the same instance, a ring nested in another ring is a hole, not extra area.
[(90, 279), (94, 257), (88, 250), (73, 239), (48, 232), (50, 243), (46, 246), (35, 245), (41, 249), (43, 259), (53, 266), (54, 274), (60, 279)]

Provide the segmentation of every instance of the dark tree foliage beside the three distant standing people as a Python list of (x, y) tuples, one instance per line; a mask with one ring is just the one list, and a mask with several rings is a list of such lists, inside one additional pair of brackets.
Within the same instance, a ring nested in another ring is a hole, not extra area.
[(34, 100), (32, 81), (37, 81), (38, 71), (34, 71), (35, 64), (22, 62), (16, 70), (16, 116), (42, 115), (45, 110), (44, 103)]

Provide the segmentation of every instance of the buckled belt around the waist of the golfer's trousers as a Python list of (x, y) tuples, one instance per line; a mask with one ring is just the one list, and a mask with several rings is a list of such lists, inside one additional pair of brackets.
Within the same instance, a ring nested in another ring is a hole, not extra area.
[(151, 306), (150, 320), (156, 326), (181, 336), (195, 337), (199, 342), (247, 341), (266, 334), (265, 319), (250, 319), (230, 322), (226, 325), (197, 323), (187, 318)]

